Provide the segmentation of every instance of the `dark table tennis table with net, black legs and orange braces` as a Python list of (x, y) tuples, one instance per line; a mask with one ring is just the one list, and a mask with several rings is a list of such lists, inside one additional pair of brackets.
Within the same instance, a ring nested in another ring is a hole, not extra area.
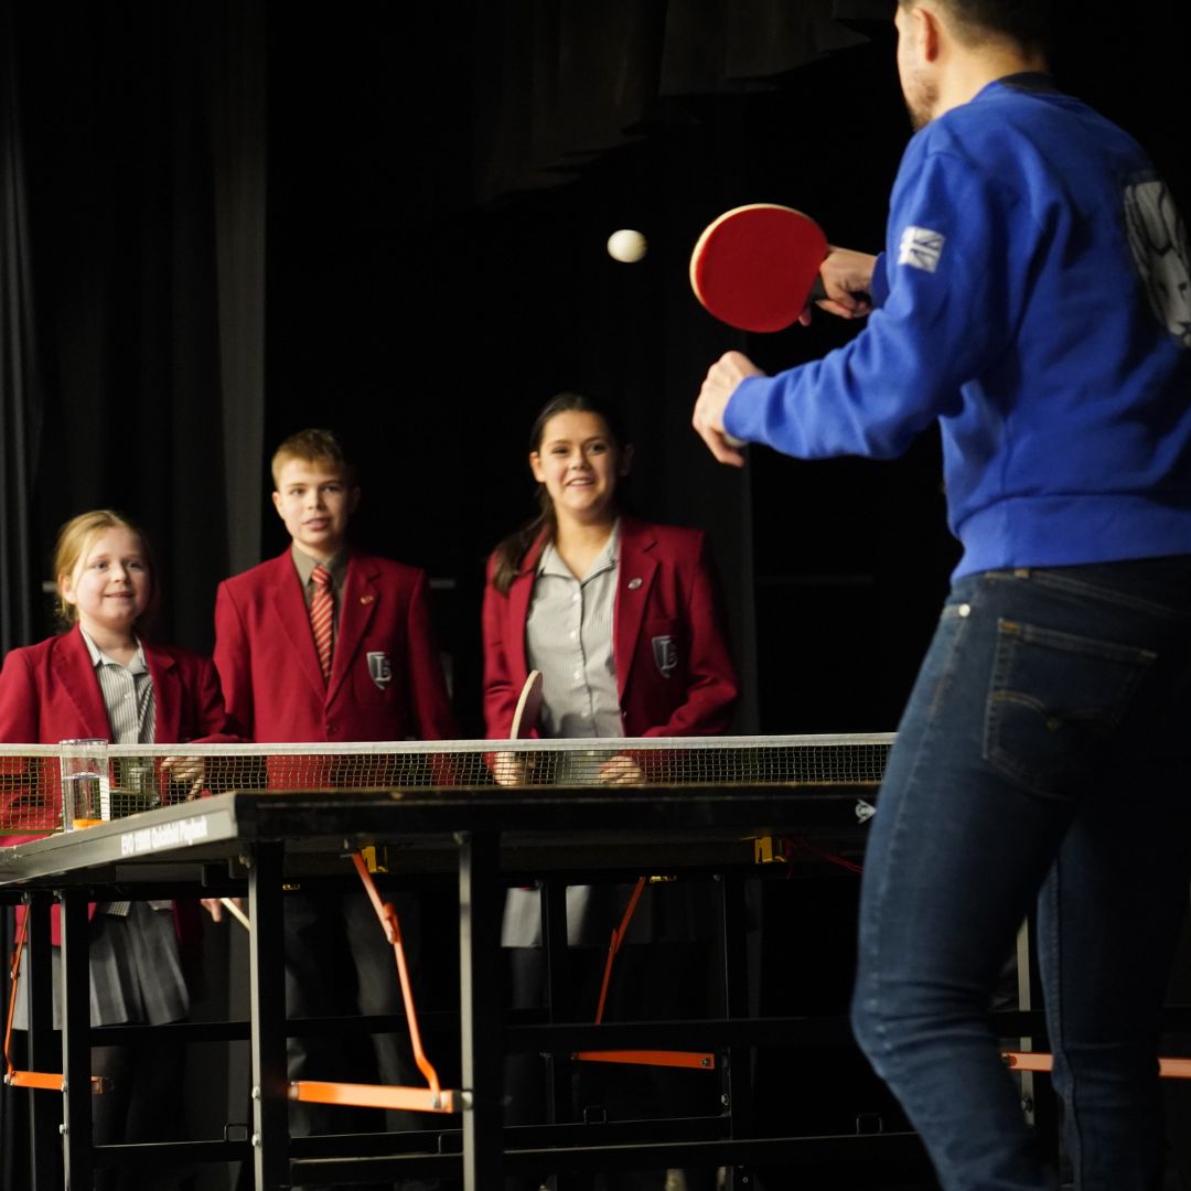
[[(859, 861), (891, 741), (885, 734), (601, 740), (598, 749), (590, 747), (594, 742), (575, 741), (412, 742), (335, 753), (283, 746), (113, 747), (111, 822), (0, 849), (0, 896), (24, 898), (30, 906), (30, 1066), (64, 1074), (61, 1139), (50, 1135), (50, 1123), (56, 1134), (58, 1121), (52, 1097), (30, 1093), (40, 1100), (33, 1114), (35, 1151), (40, 1148), (35, 1153), (35, 1191), (50, 1185), (40, 1172), (49, 1168), (48, 1147), (60, 1140), (71, 1187), (89, 1187), (96, 1164), (161, 1161), (151, 1153), (155, 1147), (92, 1145), (89, 1047), (119, 1037), (119, 1028), (93, 1029), (89, 1023), (88, 902), (225, 893), (247, 893), (252, 923), (250, 1019), (247, 1025), (229, 1023), (223, 1035), (248, 1033), (252, 1120), (245, 1137), (185, 1146), (187, 1160), (250, 1161), (261, 1191), (393, 1180), (407, 1173), (461, 1177), (469, 1191), (488, 1191), (506, 1173), (616, 1166), (722, 1166), (730, 1184), (734, 1172), (767, 1162), (880, 1162), (890, 1170), (904, 1162), (906, 1170), (925, 1172), (921, 1146), (905, 1131), (802, 1136), (791, 1122), (784, 1136), (757, 1136), (744, 1074), (743, 1056), (757, 1046), (822, 1043), (829, 1036), (849, 1045), (841, 1021), (749, 1016), (742, 891), (747, 880), (785, 877), (824, 858)], [(516, 762), (516, 784), (493, 778), (497, 748), (505, 762)], [(204, 762), (208, 796), (172, 803), (166, 790), (146, 798), (142, 785), (127, 805), (120, 804), (121, 760), (135, 756), (143, 768), (145, 761), (160, 766), (180, 753)], [(0, 753), (0, 765), (11, 785), (20, 772), (17, 762), (24, 763), (31, 790), (38, 782), (27, 774), (42, 766), (43, 793), (51, 797), (56, 756), (51, 746), (10, 747)], [(610, 757), (631, 761), (628, 780), (622, 765), (622, 784), (609, 784)], [(30, 823), (44, 825), (45, 806), (36, 797), (24, 805), (31, 807)], [(439, 880), (453, 874), (457, 883), (462, 1086), (455, 1090), (455, 1104), (463, 1111), (430, 1121), (425, 1136), (355, 1135), (342, 1145), (291, 1137), (280, 929), (285, 891), (297, 883), (304, 891), (316, 891), (320, 883), (342, 886), (350, 875), (348, 858), (362, 849), (382, 858), (375, 866), (381, 869), (378, 880), (416, 885), (431, 874)], [(557, 913), (565, 885), (637, 873), (718, 881), (722, 1016), (698, 1023), (509, 1024), (492, 979), (500, 962), (505, 887), (541, 880), (547, 922), (553, 913), (555, 923), (547, 930), (547, 947), (557, 948), (561, 939), (565, 953), (565, 923)], [(61, 1043), (46, 998), (37, 996), (49, 987), (52, 899), (62, 906)], [(194, 1037), (211, 1030), (198, 1024), (123, 1029), (146, 1028)], [(1029, 1033), (1024, 1023), (1022, 1033)], [(506, 1050), (565, 1058), (646, 1045), (717, 1053), (722, 1061), (712, 1078), (722, 1080), (724, 1111), (685, 1122), (504, 1128)]]

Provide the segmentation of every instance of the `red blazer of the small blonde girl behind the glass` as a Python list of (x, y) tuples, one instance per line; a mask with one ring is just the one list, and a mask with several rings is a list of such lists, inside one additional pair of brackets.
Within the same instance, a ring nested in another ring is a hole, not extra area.
[[(177, 646), (144, 643), (154, 684), (156, 744), (222, 744), (242, 740), (224, 710), (219, 678), (211, 660)], [(56, 744), (62, 740), (111, 740), (107, 709), (99, 690), (87, 643), (77, 626), (36, 646), (13, 649), (0, 671), (0, 741), (6, 744)], [(0, 822), (24, 811), (24, 792), (11, 759), (0, 763), (8, 781), (0, 793)], [(57, 762), (44, 769), (45, 786), (57, 791)], [(15, 779), (15, 780), (14, 780)], [(12, 784), (14, 788), (7, 788)], [(52, 830), (61, 816), (57, 796), (45, 807), (44, 823)], [(5, 836), (0, 843), (21, 843), (30, 835)], [(94, 911), (94, 906), (92, 906)], [(52, 908), (54, 942), (60, 942), (58, 908)]]

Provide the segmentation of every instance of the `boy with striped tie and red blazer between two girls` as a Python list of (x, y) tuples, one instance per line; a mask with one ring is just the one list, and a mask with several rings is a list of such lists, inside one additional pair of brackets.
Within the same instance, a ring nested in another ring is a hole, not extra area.
[[(225, 580), (216, 597), (214, 660), (229, 712), (266, 743), (456, 736), (426, 576), (348, 547), (360, 487), (335, 436), (304, 430), (287, 438), (273, 456), (273, 479), (291, 545)], [(417, 906), (398, 900), (398, 909), (412, 958)], [(286, 1002), (291, 1017), (401, 1012), (393, 950), (362, 891), (287, 902)], [(378, 1034), (373, 1042), (381, 1081), (417, 1081), (407, 1039)], [(289, 1078), (360, 1081), (344, 1050), (291, 1039)], [(348, 1116), (291, 1106), (295, 1134), (344, 1131)], [(394, 1127), (418, 1127), (416, 1117), (397, 1116)]]

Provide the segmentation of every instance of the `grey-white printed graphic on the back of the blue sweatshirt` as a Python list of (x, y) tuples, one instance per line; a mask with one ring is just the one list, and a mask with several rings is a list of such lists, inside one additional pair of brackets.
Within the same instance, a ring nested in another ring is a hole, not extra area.
[(1161, 179), (1149, 177), (1125, 187), (1124, 225), (1151, 310), (1184, 348), (1191, 348), (1186, 226)]

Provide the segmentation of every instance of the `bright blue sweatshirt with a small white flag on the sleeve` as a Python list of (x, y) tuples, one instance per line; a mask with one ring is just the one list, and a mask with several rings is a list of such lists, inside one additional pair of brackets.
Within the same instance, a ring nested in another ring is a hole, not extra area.
[(1141, 149), (1041, 75), (922, 129), (868, 325), (743, 381), (729, 434), (899, 455), (939, 420), (955, 575), (1191, 553), (1186, 238)]

